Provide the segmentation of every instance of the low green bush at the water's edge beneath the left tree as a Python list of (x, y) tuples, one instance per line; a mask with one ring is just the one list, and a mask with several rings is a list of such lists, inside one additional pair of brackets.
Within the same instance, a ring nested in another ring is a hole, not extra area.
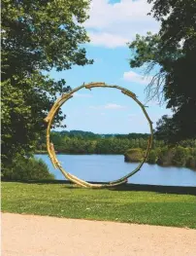
[(48, 166), (42, 160), (16, 157), (11, 165), (2, 168), (2, 179), (6, 180), (41, 180), (54, 179)]

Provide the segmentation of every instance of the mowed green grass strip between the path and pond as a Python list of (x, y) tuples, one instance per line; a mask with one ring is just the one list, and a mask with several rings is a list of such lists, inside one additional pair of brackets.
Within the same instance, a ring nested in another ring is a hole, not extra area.
[(196, 229), (196, 197), (2, 182), (2, 211)]

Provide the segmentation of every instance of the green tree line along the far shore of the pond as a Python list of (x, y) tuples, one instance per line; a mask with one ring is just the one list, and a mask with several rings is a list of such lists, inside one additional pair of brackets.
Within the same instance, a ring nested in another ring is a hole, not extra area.
[[(183, 140), (178, 145), (168, 145), (157, 139), (155, 133), (147, 163), (177, 165), (196, 168), (196, 139)], [(147, 149), (149, 134), (95, 134), (89, 131), (52, 131), (50, 140), (57, 153), (64, 154), (120, 154), (127, 162), (140, 162)], [(37, 145), (37, 153), (47, 153), (46, 138)]]

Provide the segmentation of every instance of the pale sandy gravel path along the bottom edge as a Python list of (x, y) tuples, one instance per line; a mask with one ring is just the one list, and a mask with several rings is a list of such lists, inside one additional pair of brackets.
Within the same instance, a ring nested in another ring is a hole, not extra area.
[(2, 256), (195, 256), (196, 230), (2, 213)]

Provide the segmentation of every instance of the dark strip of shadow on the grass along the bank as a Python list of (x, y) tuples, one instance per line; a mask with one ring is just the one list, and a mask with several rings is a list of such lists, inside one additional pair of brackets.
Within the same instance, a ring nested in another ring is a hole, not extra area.
[[(37, 185), (46, 185), (46, 184), (64, 184), (67, 185), (66, 189), (81, 189), (77, 185), (74, 185), (67, 180), (2, 180), (6, 182), (19, 182), (26, 184), (37, 184)], [(95, 182), (90, 182), (95, 183)], [(100, 182), (105, 184), (104, 182)], [(123, 184), (113, 188), (105, 188), (105, 190), (112, 191), (147, 191), (147, 192), (157, 192), (161, 194), (180, 194), (180, 195), (194, 195), (196, 196), (196, 187), (182, 187), (182, 186), (161, 186), (161, 185), (143, 185), (143, 184)]]

